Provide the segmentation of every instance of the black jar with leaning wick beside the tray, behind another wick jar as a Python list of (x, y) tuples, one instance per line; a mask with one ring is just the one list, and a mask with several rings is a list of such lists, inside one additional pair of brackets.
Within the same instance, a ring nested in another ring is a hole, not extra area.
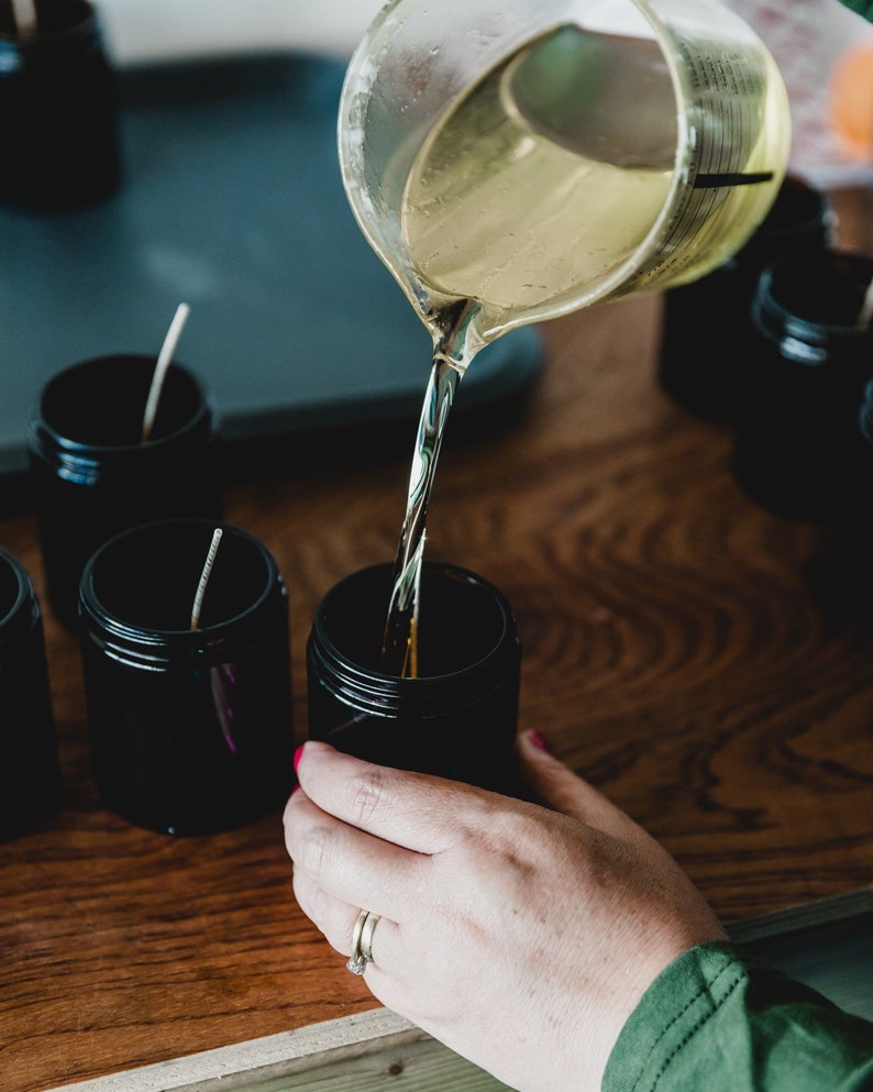
[(48, 604), (76, 626), (79, 578), (113, 534), (156, 519), (220, 519), (218, 437), (209, 397), (178, 363), (164, 379), (151, 435), (142, 421), (155, 359), (97, 356), (43, 387), (27, 429)]

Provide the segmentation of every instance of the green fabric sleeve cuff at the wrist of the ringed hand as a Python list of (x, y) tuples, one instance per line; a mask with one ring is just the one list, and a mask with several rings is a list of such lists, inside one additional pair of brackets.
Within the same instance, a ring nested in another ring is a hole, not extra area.
[(692, 948), (618, 1037), (603, 1092), (870, 1092), (873, 1024), (729, 944)]

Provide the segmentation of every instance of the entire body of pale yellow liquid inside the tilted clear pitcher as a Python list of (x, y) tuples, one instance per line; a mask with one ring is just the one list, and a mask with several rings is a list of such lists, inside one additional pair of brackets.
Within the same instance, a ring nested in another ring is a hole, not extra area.
[[(532, 104), (519, 101), (517, 90), (549, 80), (552, 54), (560, 62), (573, 51), (581, 60), (593, 54), (615, 74), (616, 86), (604, 88), (609, 77), (601, 76), (598, 86), (586, 87), (583, 73), (574, 87), (556, 73), (552, 98), (546, 87)], [(489, 341), (544, 310), (571, 310), (647, 279), (660, 278), (653, 287), (662, 287), (699, 276), (763, 219), (781, 181), (791, 126), (775, 66), (743, 96), (742, 139), (736, 131), (719, 136), (734, 142), (729, 173), (744, 181), (689, 190), (686, 230), (671, 235), (665, 206), (677, 108), (666, 68), (651, 56), (660, 56), (654, 41), (559, 27), (488, 73), (435, 128), (409, 173), (400, 225), (443, 333), (451, 318), (442, 312), (458, 299), (475, 301), (476, 332)], [(566, 102), (562, 90), (577, 101)], [(611, 98), (594, 107), (599, 131), (587, 123), (586, 90)], [(698, 165), (701, 174), (709, 158)], [(679, 247), (674, 267), (671, 251)]]

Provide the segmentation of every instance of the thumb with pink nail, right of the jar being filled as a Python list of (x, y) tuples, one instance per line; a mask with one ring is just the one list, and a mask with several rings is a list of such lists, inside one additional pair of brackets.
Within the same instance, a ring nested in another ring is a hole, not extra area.
[(537, 731), (526, 731), (518, 740), (519, 759), (524, 779), (534, 798), (555, 812), (570, 815), (590, 827), (623, 840), (648, 840), (641, 827), (594, 785), (574, 773), (549, 753), (545, 740)]

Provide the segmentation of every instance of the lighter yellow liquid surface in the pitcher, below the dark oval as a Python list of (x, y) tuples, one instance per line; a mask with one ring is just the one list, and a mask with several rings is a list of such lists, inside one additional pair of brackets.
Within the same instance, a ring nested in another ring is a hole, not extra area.
[(478, 301), (483, 332), (578, 296), (629, 258), (672, 178), (596, 163), (538, 133), (506, 93), (508, 67), (422, 148), (401, 212), (421, 282), (438, 296)]

